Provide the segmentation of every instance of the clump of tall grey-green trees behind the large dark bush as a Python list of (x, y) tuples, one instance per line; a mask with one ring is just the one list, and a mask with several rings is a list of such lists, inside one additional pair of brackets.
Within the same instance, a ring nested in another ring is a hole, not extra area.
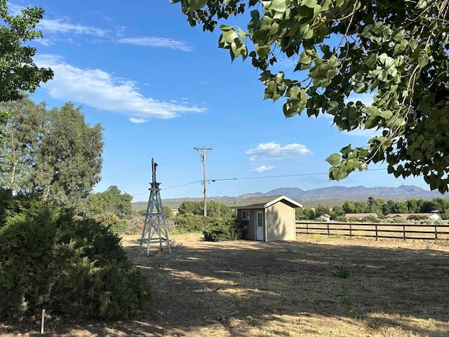
[(100, 180), (100, 124), (86, 124), (81, 107), (72, 103), (48, 111), (45, 103), (25, 97), (0, 103), (4, 111), (13, 114), (0, 124), (0, 187), (80, 206)]

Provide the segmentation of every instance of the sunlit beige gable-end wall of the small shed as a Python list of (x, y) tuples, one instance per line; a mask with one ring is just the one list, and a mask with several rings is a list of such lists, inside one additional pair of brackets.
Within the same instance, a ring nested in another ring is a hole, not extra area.
[(276, 202), (267, 212), (267, 241), (296, 240), (295, 209)]

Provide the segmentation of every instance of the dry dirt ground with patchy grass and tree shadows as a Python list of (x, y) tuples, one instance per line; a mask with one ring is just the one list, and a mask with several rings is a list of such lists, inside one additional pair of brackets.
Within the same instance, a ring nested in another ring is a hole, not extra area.
[[(147, 257), (152, 301), (131, 322), (48, 319), (46, 336), (449, 336), (449, 245), (312, 235), (297, 242), (173, 236)], [(342, 278), (348, 276), (347, 278)], [(39, 324), (0, 324), (34, 336)]]

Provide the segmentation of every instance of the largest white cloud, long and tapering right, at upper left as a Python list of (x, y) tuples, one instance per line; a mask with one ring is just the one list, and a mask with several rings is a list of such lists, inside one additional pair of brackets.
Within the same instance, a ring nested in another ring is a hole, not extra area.
[(134, 81), (119, 79), (105, 70), (75, 67), (55, 55), (36, 58), (36, 64), (51, 67), (55, 72), (52, 81), (41, 85), (51, 98), (126, 114), (133, 118), (134, 123), (142, 119), (170, 119), (185, 112), (206, 111), (205, 107), (191, 103), (170, 103), (145, 97)]

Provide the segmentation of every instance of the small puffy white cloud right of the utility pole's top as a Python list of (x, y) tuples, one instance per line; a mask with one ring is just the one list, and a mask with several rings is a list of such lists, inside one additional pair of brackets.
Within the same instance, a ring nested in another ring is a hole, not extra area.
[(305, 145), (293, 143), (281, 146), (281, 144), (275, 142), (260, 143), (255, 149), (246, 151), (246, 154), (251, 156), (251, 161), (255, 161), (259, 156), (267, 159), (283, 159), (296, 154), (308, 153), (311, 153), (311, 151)]

